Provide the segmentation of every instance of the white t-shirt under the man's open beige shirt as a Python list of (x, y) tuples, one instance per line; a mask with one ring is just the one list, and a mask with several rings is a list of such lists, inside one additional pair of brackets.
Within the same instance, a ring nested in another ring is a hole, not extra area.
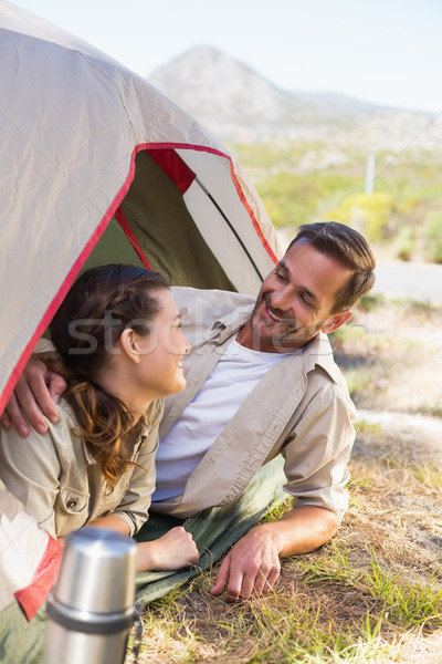
[(245, 397), (285, 353), (252, 351), (234, 339), (193, 401), (161, 439), (152, 500), (181, 496), (188, 477)]

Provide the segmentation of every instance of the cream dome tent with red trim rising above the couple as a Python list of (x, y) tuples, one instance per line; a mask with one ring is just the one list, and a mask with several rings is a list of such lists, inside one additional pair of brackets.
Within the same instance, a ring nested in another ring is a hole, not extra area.
[(107, 55), (0, 0), (0, 69), (1, 412), (86, 260), (254, 293), (278, 247), (227, 149)]

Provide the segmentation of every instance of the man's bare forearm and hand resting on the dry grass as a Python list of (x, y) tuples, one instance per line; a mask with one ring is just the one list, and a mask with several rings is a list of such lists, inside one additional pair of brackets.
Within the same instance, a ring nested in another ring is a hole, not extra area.
[(255, 526), (224, 558), (211, 594), (220, 594), (225, 585), (231, 601), (269, 592), (280, 575), (281, 558), (317, 549), (335, 535), (338, 525), (335, 512), (306, 505), (278, 521)]

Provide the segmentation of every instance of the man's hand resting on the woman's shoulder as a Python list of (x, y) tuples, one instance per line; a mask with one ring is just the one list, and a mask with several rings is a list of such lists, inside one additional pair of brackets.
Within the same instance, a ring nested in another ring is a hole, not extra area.
[(59, 419), (54, 403), (60, 401), (65, 390), (64, 378), (53, 373), (40, 360), (31, 357), (4, 408), (0, 424), (4, 428), (10, 428), (13, 424), (21, 436), (28, 436), (30, 428), (24, 413), (34, 429), (44, 434), (48, 424), (43, 414), (51, 422)]

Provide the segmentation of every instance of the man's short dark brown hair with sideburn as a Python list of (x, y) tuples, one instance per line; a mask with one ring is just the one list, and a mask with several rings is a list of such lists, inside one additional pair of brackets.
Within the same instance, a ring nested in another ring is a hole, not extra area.
[(337, 293), (333, 313), (350, 309), (375, 283), (375, 256), (360, 232), (337, 221), (318, 221), (299, 226), (296, 237), (288, 245), (306, 241), (315, 249), (335, 258), (354, 271), (354, 276)]

